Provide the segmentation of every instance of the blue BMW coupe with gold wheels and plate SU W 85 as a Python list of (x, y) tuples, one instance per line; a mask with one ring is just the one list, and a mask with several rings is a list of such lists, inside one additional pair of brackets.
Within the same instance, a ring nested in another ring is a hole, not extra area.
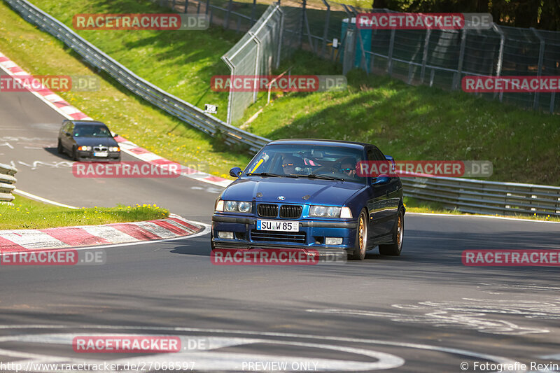
[(379, 246), (400, 255), (405, 227), (400, 178), (358, 176), (387, 161), (376, 146), (334, 140), (268, 143), (216, 200), (211, 247), (299, 248), (363, 260)]

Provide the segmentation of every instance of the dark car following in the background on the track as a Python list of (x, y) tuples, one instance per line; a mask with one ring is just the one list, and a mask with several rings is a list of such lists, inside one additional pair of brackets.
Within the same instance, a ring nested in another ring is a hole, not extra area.
[(120, 147), (111, 131), (104, 123), (93, 120), (64, 120), (58, 133), (57, 151), (67, 153), (76, 161), (120, 162)]

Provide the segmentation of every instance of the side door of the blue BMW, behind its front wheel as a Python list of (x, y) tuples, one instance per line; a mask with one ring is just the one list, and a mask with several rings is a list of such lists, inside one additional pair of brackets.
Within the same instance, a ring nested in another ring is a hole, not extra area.
[[(374, 148), (370, 147), (366, 150), (368, 161), (377, 161), (377, 155), (374, 153)], [(387, 214), (384, 209), (386, 208), (386, 185), (376, 184), (378, 178), (368, 178), (368, 193), (367, 193), (367, 211), (369, 211), (369, 221), (367, 234), (372, 241), (378, 237), (384, 236), (387, 232), (386, 220)]]

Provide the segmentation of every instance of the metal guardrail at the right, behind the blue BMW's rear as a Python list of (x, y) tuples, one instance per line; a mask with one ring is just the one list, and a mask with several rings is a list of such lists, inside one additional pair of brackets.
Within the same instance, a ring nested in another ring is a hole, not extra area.
[(469, 178), (401, 178), (405, 195), (447, 209), (500, 215), (560, 216), (560, 187)]

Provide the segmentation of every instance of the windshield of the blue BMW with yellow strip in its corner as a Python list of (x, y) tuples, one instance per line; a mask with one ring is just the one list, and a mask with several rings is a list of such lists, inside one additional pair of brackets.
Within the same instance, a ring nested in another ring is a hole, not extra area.
[(365, 183), (356, 175), (356, 163), (364, 160), (363, 151), (344, 146), (314, 146), (306, 144), (269, 145), (256, 155), (244, 171), (247, 174), (331, 178)]

